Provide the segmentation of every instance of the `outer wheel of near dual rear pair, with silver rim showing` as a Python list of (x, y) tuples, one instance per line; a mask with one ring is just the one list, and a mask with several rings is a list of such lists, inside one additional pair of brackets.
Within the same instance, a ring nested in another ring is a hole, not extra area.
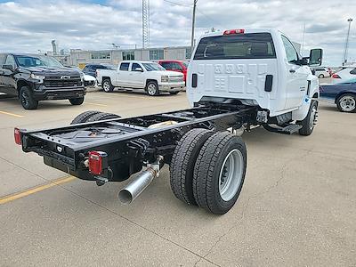
[(194, 168), (193, 193), (198, 206), (225, 214), (244, 184), (247, 169), (245, 143), (227, 132), (212, 135), (200, 150)]

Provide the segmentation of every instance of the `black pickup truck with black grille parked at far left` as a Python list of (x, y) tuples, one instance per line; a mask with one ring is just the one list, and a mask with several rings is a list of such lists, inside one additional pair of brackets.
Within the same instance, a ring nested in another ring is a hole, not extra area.
[(85, 98), (83, 74), (50, 56), (0, 53), (0, 93), (17, 96), (24, 109), (38, 101), (68, 99), (81, 105)]

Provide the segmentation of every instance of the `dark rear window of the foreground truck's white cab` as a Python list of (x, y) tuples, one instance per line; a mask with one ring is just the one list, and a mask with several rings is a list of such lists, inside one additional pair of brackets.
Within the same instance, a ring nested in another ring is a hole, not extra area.
[(202, 38), (194, 60), (274, 59), (270, 33), (237, 34)]

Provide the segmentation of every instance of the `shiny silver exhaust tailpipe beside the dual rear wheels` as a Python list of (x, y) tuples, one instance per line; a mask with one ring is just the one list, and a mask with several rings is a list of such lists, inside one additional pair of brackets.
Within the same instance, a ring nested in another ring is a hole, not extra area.
[(159, 156), (155, 163), (149, 165), (133, 182), (130, 182), (124, 189), (118, 192), (118, 200), (122, 204), (127, 205), (132, 203), (150, 185), (153, 179), (159, 176), (159, 162), (162, 159), (163, 157)]

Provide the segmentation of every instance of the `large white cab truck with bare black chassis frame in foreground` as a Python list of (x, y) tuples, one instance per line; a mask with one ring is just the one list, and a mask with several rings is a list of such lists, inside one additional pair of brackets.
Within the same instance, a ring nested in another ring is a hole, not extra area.
[(125, 118), (89, 110), (62, 127), (15, 128), (15, 142), (44, 164), (100, 186), (140, 173), (119, 191), (124, 204), (167, 164), (176, 198), (225, 214), (239, 198), (247, 170), (237, 133), (262, 125), (279, 134), (312, 134), (319, 85), (308, 65), (320, 65), (321, 58), (320, 49), (302, 58), (275, 29), (209, 34), (190, 60), (191, 109)]

